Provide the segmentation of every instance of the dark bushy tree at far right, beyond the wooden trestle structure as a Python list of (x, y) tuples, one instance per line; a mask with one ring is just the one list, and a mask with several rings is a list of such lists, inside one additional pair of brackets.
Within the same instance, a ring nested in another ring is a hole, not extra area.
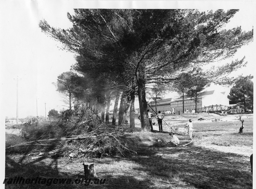
[(236, 84), (230, 89), (228, 95), (229, 100), (243, 102), (244, 107), (250, 108), (253, 106), (253, 82), (252, 75), (242, 76), (236, 78)]

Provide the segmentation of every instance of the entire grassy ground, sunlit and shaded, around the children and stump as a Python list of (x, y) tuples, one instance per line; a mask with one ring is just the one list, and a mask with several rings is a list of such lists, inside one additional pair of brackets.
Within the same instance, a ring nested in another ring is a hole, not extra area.
[[(96, 173), (106, 178), (104, 184), (5, 184), (5, 188), (252, 188), (250, 155), (253, 141), (253, 116), (244, 114), (244, 133), (238, 134), (239, 115), (217, 114), (166, 115), (168, 125), (182, 130), (188, 119), (193, 120), (193, 141), (187, 146), (188, 133), (176, 135), (180, 145), (167, 145), (170, 128), (164, 132), (128, 132), (129, 145), (137, 152), (130, 158), (108, 156), (97, 159), (47, 157), (31, 160), (22, 154), (6, 154), (5, 177), (77, 178), (84, 177), (84, 162), (94, 162)], [(197, 119), (204, 118), (203, 121)], [(129, 120), (129, 119), (128, 119)], [(129, 127), (129, 125), (127, 125)], [(158, 130), (157, 123), (154, 130)], [(6, 143), (17, 139), (6, 130)], [(214, 135), (219, 134), (219, 135)], [(207, 135), (207, 136), (203, 136)], [(70, 152), (69, 152), (70, 153)]]

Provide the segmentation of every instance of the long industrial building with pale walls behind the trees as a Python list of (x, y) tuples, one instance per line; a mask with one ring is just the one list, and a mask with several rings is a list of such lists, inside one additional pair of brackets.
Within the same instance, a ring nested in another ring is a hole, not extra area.
[[(195, 113), (195, 108), (200, 109), (205, 106), (212, 106), (212, 105), (223, 105), (229, 106), (229, 100), (227, 98), (228, 92), (227, 91), (204, 91), (199, 94), (199, 98), (197, 101), (197, 107), (195, 100), (193, 98), (189, 98), (188, 96), (184, 97), (184, 113)], [(155, 102), (151, 101), (148, 102), (150, 106), (155, 108)], [(172, 113), (182, 113), (182, 96), (179, 98), (167, 98), (162, 100), (156, 101), (156, 108), (157, 111), (166, 112), (171, 111)]]

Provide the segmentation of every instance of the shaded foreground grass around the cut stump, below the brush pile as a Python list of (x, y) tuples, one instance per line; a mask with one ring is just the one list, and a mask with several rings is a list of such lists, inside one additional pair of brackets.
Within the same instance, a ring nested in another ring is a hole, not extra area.
[[(94, 159), (104, 184), (24, 184), (6, 188), (252, 188), (250, 161), (240, 155), (222, 153), (198, 146), (140, 147), (130, 159)], [(84, 177), (81, 160), (65, 157), (41, 158), (6, 156), (5, 177), (71, 178)], [(122, 166), (131, 164), (129, 168)], [(115, 169), (108, 169), (117, 165)], [(105, 167), (104, 167), (105, 166)], [(111, 172), (113, 171), (113, 172)]]

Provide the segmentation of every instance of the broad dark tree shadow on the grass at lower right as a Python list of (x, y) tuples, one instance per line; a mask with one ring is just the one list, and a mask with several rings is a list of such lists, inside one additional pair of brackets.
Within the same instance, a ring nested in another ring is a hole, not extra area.
[(151, 148), (147, 157), (132, 158), (140, 163), (141, 171), (152, 177), (172, 178), (196, 188), (230, 189), (252, 188), (249, 160), (249, 157), (246, 161), (237, 154), (197, 146)]

